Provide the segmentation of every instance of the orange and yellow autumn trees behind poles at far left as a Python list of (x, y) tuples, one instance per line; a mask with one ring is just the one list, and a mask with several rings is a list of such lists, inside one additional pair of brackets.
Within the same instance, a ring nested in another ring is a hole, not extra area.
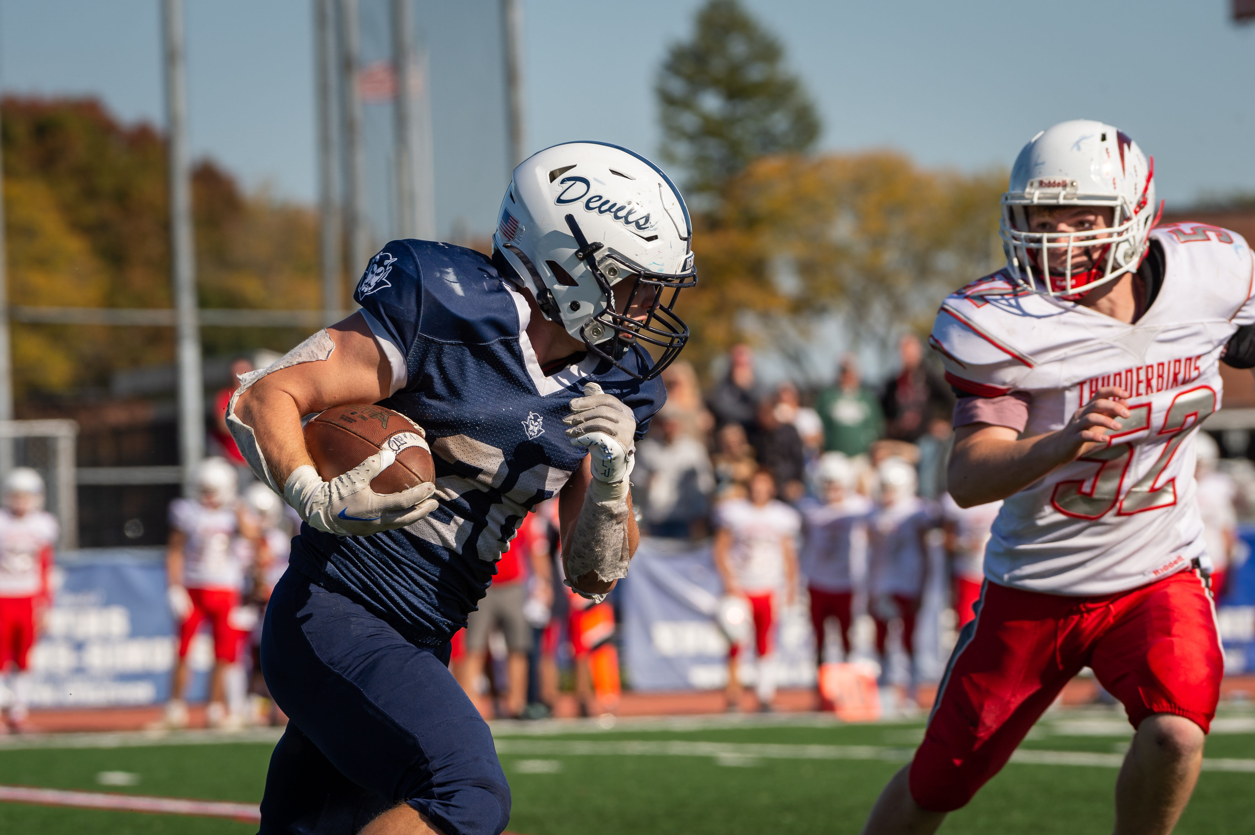
[[(169, 307), (166, 143), (122, 125), (92, 99), (0, 103), (9, 302), (51, 307)], [(319, 306), (316, 217), (243, 194), (211, 162), (192, 182), (202, 307)], [(205, 328), (207, 356), (272, 347), (301, 333)], [(164, 327), (13, 326), (19, 414), (33, 401), (107, 390), (113, 371), (173, 361)]]

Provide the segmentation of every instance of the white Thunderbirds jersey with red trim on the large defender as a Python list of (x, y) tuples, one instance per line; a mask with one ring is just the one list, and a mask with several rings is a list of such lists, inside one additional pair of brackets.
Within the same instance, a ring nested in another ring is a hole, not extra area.
[(1194, 431), (1220, 409), (1219, 362), (1255, 321), (1255, 260), (1241, 236), (1182, 223), (1151, 238), (1165, 275), (1132, 325), (1028, 292), (994, 273), (949, 296), (930, 342), (946, 379), (983, 396), (1032, 397), (1024, 436), (1062, 429), (1102, 386), (1132, 396), (1106, 448), (1007, 499), (985, 553), (995, 583), (1109, 594), (1202, 558)]

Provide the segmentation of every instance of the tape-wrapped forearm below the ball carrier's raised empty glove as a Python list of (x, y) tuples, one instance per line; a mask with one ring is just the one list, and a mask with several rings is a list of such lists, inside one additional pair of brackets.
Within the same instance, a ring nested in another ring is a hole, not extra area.
[[(584, 496), (584, 507), (575, 522), (571, 543), (562, 557), (566, 568), (567, 586), (577, 577), (592, 572), (595, 577), (609, 583), (628, 575), (628, 562), (631, 559), (631, 547), (628, 539), (628, 524), (631, 510), (628, 508), (628, 479), (606, 484), (594, 479)], [(575, 588), (574, 586), (571, 586)], [(582, 597), (601, 602), (605, 594), (591, 594), (575, 589)]]

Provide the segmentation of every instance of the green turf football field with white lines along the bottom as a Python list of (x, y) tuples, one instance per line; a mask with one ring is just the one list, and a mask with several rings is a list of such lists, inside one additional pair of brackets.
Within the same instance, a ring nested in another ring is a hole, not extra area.
[[(921, 722), (841, 726), (825, 720), (722, 717), (580, 725), (499, 725), (513, 789), (510, 829), (525, 835), (857, 832), (884, 782), (910, 756)], [(1109, 832), (1114, 765), (1131, 730), (1118, 713), (1043, 720), (1013, 762), (943, 832)], [(256, 802), (266, 742), (19, 750), (0, 743), (0, 784)], [(1251, 831), (1255, 715), (1227, 713), (1177, 831)], [(1050, 762), (1044, 765), (1043, 761)], [(97, 775), (139, 775), (102, 786)], [(0, 831), (237, 832), (231, 821), (0, 804)]]

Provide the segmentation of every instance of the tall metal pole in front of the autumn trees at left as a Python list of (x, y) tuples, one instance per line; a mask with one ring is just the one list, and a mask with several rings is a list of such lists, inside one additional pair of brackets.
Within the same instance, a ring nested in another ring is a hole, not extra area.
[(166, 120), (169, 132), (169, 249), (174, 285), (174, 340), (178, 351), (178, 451), (183, 495), (195, 495), (192, 475), (205, 456), (205, 384), (201, 379), (201, 325), (192, 243), (192, 179), (187, 149), (187, 65), (183, 3), (163, 0), (166, 36)]

